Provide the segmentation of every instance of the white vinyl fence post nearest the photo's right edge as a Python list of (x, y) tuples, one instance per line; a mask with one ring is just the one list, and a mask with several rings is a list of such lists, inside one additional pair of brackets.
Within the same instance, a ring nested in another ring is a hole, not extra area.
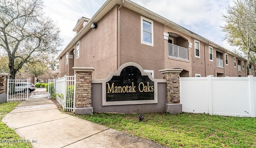
[(254, 98), (254, 84), (253, 84), (253, 76), (248, 75), (249, 78), (249, 96), (250, 96), (250, 108), (251, 108), (251, 117), (255, 117), (255, 98)]

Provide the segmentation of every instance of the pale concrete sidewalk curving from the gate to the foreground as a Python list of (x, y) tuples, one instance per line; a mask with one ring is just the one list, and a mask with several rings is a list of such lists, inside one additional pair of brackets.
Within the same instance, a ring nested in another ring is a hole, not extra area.
[(166, 147), (58, 111), (46, 98), (20, 103), (2, 120), (35, 148)]

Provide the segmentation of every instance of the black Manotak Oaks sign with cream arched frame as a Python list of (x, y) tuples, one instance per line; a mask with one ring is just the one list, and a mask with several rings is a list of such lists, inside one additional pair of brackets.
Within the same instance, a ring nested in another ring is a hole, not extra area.
[(102, 83), (102, 106), (158, 103), (157, 83), (166, 82), (133, 62), (124, 63), (106, 79), (92, 81)]

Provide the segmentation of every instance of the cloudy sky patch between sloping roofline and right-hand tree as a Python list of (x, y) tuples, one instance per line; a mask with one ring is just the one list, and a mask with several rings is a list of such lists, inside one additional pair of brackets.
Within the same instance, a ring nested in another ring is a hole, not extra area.
[(232, 0), (132, 0), (164, 18), (231, 50), (224, 41), (222, 15)]

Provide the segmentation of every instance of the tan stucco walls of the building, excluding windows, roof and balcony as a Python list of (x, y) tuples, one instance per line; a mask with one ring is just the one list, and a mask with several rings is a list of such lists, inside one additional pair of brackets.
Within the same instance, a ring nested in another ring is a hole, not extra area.
[[(66, 65), (66, 55), (63, 55), (62, 59), (60, 59), (60, 77), (63, 77), (64, 74), (73, 75), (73, 66), (94, 67), (93, 79), (105, 79), (108, 77), (109, 72), (118, 69), (118, 7), (119, 5), (116, 5), (100, 21), (96, 22), (98, 28), (90, 29), (80, 39), (80, 57), (78, 59), (74, 55), (74, 59), (69, 59), (69, 64)], [(154, 20), (152, 21), (154, 22), (154, 46), (141, 43), (141, 15), (124, 7), (121, 9), (120, 65), (127, 62), (138, 63), (143, 69), (154, 70), (154, 77), (157, 79), (162, 78), (159, 70), (170, 68), (184, 69), (188, 73), (185, 73), (183, 76), (189, 77), (195, 77), (195, 74), (200, 74), (201, 77), (207, 75), (214, 75), (216, 77), (217, 73), (223, 73), (223, 76), (230, 77), (237, 77), (238, 75), (246, 76), (246, 65), (244, 65), (245, 69), (242, 69), (242, 72), (238, 72), (238, 66), (234, 67), (233, 55), (228, 55), (228, 65), (226, 65), (224, 51), (213, 47), (213, 61), (209, 61), (209, 44), (200, 41), (200, 58), (197, 58), (195, 57), (195, 39), (193, 37), (187, 36)], [(170, 37), (174, 38), (174, 44), (188, 48), (187, 61), (168, 57), (168, 41), (163, 37), (164, 32), (182, 36)], [(191, 48), (188, 47), (189, 42), (192, 43)], [(72, 49), (76, 50), (75, 46), (70, 48), (69, 51), (72, 51)], [(210, 46), (212, 46), (211, 43)], [(224, 68), (218, 68), (216, 66), (216, 51), (222, 53)], [(239, 58), (237, 57), (237, 59)], [(246, 61), (244, 61), (244, 64), (246, 64)]]

